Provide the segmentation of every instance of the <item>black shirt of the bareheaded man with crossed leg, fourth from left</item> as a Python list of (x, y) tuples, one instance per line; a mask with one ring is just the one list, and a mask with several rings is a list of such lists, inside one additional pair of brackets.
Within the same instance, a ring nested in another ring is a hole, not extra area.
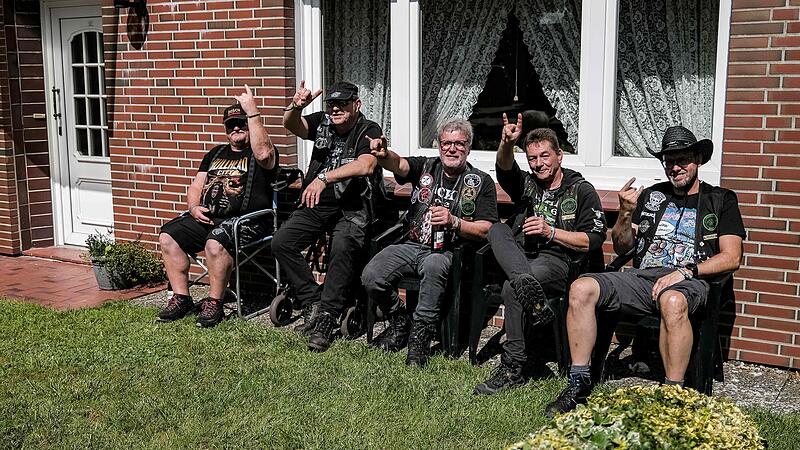
[[(497, 181), (500, 183), (500, 187), (511, 197), (511, 201), (518, 205), (523, 204), (524, 200), (522, 196), (525, 193), (525, 182), (527, 178), (531, 176), (530, 173), (520, 169), (516, 161), (514, 161), (509, 170), (503, 170), (499, 166), (495, 166), (495, 169), (497, 171)], [(547, 224), (553, 227), (559, 225), (559, 199), (564, 196), (569, 186), (583, 178), (580, 173), (574, 170), (565, 167), (562, 167), (561, 170), (564, 174), (561, 186), (555, 189), (543, 190), (541, 201), (537, 205), (534, 205), (534, 211), (529, 211), (528, 214), (538, 214), (544, 217)], [(606, 239), (606, 220), (605, 214), (603, 213), (603, 206), (600, 203), (600, 196), (597, 195), (594, 186), (589, 182), (582, 181), (577, 187), (575, 197), (578, 204), (574, 211), (575, 221), (573, 222), (573, 231), (582, 231), (586, 233), (587, 236), (589, 236), (589, 248), (598, 248)], [(530, 240), (526, 240), (526, 242), (530, 242)], [(537, 249), (540, 251), (549, 249), (557, 253), (563, 253), (563, 248), (560, 247), (561, 246), (555, 242), (551, 242), (544, 246), (540, 243)], [(526, 244), (525, 250), (531, 251), (532, 249), (527, 248)]]

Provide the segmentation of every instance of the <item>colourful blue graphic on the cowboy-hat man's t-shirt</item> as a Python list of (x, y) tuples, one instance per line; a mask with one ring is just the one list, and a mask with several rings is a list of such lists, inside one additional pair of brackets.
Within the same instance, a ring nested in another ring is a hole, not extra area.
[(683, 267), (695, 260), (697, 209), (669, 202), (640, 268)]

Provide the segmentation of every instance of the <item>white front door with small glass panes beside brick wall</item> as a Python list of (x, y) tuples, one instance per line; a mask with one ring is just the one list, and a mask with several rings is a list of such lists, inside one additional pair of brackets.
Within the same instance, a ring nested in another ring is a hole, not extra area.
[(114, 224), (102, 18), (100, 6), (47, 11), (57, 242), (84, 245), (90, 233)]

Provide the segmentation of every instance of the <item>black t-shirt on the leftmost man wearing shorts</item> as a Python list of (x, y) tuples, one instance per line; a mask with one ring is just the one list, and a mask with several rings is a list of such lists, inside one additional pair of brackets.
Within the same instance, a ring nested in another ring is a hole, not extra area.
[[(207, 172), (207, 175), (206, 184), (200, 195), (200, 204), (209, 209), (206, 214), (209, 218), (227, 219), (271, 207), (270, 183), (278, 171), (278, 164), (276, 162), (272, 170), (264, 169), (255, 158), (251, 157), (252, 154), (253, 150), (249, 147), (237, 151), (226, 145), (219, 154), (214, 148), (203, 157), (198, 173)], [(255, 167), (252, 170), (253, 179), (249, 180), (251, 163), (255, 164)], [(250, 189), (247, 209), (242, 211), (242, 201), (247, 193), (248, 182), (252, 182), (253, 186)]]

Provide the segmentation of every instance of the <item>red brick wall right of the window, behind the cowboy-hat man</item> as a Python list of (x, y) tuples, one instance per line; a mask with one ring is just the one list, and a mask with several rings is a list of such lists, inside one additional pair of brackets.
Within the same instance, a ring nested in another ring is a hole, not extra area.
[(800, 368), (800, 0), (733, 0), (722, 185), (748, 239), (730, 356)]

